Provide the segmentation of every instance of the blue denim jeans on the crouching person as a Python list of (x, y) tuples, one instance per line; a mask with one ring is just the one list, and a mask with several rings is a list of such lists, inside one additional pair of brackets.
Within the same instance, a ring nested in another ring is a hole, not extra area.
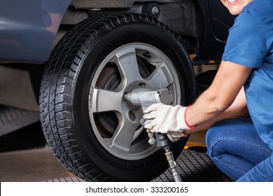
[(273, 181), (272, 149), (260, 139), (251, 118), (217, 123), (206, 142), (211, 160), (235, 181)]

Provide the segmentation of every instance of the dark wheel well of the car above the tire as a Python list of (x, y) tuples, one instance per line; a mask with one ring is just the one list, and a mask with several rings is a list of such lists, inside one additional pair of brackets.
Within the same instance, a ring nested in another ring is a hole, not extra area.
[[(158, 10), (157, 10), (158, 9)], [(86, 18), (105, 13), (139, 13), (148, 15), (181, 36), (181, 42), (190, 51), (196, 50), (200, 31), (200, 13), (196, 0), (169, 1), (85, 1), (74, 0), (64, 14), (55, 45), (71, 27)]]

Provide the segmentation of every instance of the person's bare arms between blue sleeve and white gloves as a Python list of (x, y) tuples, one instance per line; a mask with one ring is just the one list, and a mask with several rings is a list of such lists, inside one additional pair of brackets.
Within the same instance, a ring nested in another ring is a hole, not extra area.
[[(222, 61), (209, 89), (203, 92), (197, 101), (188, 108), (186, 114), (188, 124), (200, 125), (200, 128), (202, 126), (208, 127), (219, 120), (235, 116), (236, 107), (242, 106), (244, 108), (243, 104), (234, 102), (235, 98), (237, 95), (241, 96), (239, 92), (251, 71), (252, 69), (246, 66)], [(232, 103), (234, 103), (233, 106)], [(244, 104), (246, 105), (246, 102)], [(224, 111), (225, 113), (223, 113)], [(202, 123), (207, 123), (207, 125), (202, 125)]]

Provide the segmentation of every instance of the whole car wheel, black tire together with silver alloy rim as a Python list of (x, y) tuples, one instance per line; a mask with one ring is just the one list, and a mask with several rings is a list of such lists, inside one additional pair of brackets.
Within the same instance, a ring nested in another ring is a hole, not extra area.
[[(151, 181), (168, 168), (148, 144), (139, 106), (123, 100), (139, 87), (167, 87), (174, 104), (195, 99), (195, 73), (176, 35), (143, 15), (88, 18), (57, 44), (44, 71), (40, 113), (48, 146), (85, 181)], [(187, 138), (172, 144), (177, 158)]]

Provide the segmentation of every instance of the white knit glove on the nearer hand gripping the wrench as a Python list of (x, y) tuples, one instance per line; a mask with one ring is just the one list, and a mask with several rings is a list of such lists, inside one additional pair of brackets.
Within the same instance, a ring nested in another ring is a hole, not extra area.
[(166, 104), (153, 104), (144, 111), (146, 120), (144, 127), (153, 132), (167, 134), (169, 132), (182, 133), (184, 130), (192, 130), (185, 120), (186, 107), (169, 106)]

